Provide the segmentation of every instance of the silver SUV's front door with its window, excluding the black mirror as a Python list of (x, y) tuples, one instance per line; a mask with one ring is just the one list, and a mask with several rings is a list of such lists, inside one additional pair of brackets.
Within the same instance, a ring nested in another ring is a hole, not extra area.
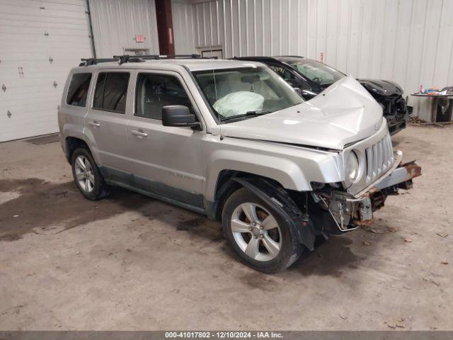
[(162, 125), (162, 108), (195, 108), (183, 79), (173, 72), (139, 72), (134, 115), (127, 124), (131, 171), (137, 188), (202, 208), (205, 132)]

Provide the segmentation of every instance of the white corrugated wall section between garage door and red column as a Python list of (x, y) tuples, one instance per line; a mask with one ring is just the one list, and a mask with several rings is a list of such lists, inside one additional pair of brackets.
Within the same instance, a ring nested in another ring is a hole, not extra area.
[[(159, 54), (154, 0), (89, 0), (96, 57), (122, 55), (126, 48)], [(136, 42), (144, 35), (144, 42)]]

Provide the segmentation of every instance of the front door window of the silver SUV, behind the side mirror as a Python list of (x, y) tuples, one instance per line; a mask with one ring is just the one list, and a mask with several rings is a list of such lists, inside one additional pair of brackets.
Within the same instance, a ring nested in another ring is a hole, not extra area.
[(162, 120), (162, 108), (169, 105), (193, 107), (180, 81), (167, 74), (140, 73), (137, 77), (135, 115)]

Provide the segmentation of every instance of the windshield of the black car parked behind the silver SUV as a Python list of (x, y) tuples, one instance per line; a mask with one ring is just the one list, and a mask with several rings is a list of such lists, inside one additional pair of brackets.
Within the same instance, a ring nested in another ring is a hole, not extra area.
[(318, 84), (333, 84), (345, 77), (345, 74), (316, 60), (303, 60), (289, 63), (292, 68)]

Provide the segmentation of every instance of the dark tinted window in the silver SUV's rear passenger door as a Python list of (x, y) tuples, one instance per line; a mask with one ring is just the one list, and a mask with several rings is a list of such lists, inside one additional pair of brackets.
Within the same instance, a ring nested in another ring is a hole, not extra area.
[(125, 113), (129, 77), (127, 72), (100, 73), (96, 82), (93, 108)]

